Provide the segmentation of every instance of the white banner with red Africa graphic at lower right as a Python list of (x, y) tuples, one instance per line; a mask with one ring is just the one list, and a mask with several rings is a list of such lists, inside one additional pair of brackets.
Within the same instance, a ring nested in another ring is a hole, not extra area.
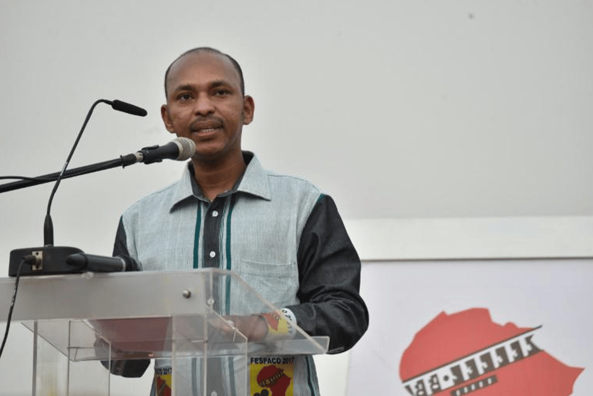
[(588, 396), (592, 280), (589, 258), (365, 263), (348, 395)]

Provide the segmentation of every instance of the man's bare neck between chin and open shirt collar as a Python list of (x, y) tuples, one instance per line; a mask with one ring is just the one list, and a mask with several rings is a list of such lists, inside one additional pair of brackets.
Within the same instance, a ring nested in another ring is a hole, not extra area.
[(197, 185), (208, 200), (213, 201), (219, 194), (232, 189), (245, 171), (247, 165), (243, 153), (237, 154), (220, 161), (192, 159)]

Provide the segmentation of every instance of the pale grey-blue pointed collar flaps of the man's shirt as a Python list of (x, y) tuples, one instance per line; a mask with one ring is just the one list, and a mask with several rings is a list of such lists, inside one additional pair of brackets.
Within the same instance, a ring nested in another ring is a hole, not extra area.
[[(265, 200), (272, 199), (267, 180), (267, 172), (262, 167), (262, 164), (260, 164), (259, 159), (250, 151), (243, 151), (243, 158), (247, 162), (247, 168), (240, 177), (238, 186), (233, 187), (229, 193), (234, 194), (237, 191), (241, 191)], [(181, 174), (181, 180), (174, 186), (171, 210), (184, 200), (190, 197), (196, 197), (194, 194), (194, 185), (196, 190), (199, 191), (199, 187), (193, 178), (192, 163), (188, 162), (186, 167), (184, 167), (183, 174)]]

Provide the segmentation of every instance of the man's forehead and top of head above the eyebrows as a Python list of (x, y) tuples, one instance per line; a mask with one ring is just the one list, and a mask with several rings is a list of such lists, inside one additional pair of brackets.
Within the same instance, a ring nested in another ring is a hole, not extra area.
[(200, 76), (240, 85), (239, 73), (231, 60), (225, 55), (207, 50), (188, 53), (173, 62), (167, 77), (167, 85), (174, 89), (175, 87), (171, 84), (187, 84), (189, 81), (181, 80)]

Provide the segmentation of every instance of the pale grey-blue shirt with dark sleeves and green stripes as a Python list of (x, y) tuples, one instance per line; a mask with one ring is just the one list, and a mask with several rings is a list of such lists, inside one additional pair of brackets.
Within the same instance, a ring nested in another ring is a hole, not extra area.
[[(114, 255), (129, 254), (144, 270), (230, 270), (288, 308), (306, 333), (329, 336), (329, 353), (349, 349), (366, 331), (368, 311), (358, 293), (361, 263), (336, 205), (310, 182), (264, 170), (250, 152), (244, 159), (243, 176), (212, 202), (191, 163), (177, 183), (136, 202), (122, 215)], [(222, 298), (229, 309), (242, 296), (228, 288)], [(313, 359), (296, 359), (294, 395), (316, 394)]]

